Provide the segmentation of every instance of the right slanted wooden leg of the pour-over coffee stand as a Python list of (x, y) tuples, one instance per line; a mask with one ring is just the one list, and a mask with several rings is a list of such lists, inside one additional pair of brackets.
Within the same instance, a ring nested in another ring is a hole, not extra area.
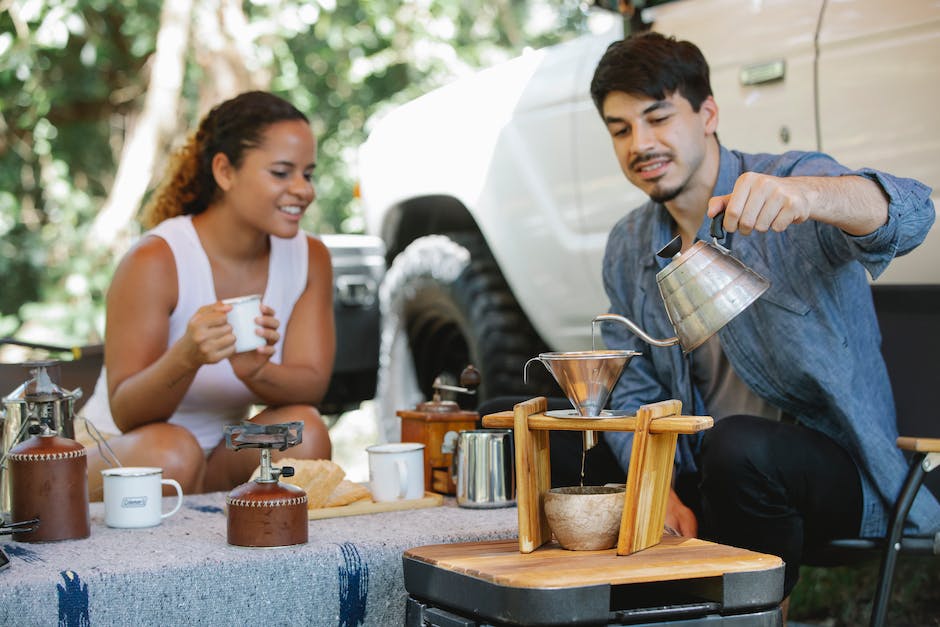
[(662, 540), (677, 435), (650, 433), (649, 428), (653, 420), (678, 416), (681, 411), (682, 403), (676, 400), (644, 405), (637, 411), (617, 555), (630, 555)]

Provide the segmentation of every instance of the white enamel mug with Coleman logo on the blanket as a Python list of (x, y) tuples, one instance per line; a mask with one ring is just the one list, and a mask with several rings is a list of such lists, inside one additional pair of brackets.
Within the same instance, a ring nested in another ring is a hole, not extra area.
[[(131, 529), (155, 527), (179, 511), (183, 488), (173, 479), (163, 478), (163, 469), (153, 466), (124, 466), (101, 471), (104, 480), (104, 523), (109, 527)], [(163, 513), (163, 486), (176, 488), (176, 505)]]

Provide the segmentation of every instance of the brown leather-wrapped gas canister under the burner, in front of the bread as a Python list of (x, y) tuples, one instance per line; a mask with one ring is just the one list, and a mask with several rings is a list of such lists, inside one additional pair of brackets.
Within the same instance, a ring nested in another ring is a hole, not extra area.
[(228, 543), (290, 546), (307, 542), (307, 493), (287, 483), (249, 481), (228, 494)]

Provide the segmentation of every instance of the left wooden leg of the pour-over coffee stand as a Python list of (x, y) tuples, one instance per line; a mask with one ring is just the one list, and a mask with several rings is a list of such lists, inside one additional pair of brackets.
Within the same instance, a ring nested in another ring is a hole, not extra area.
[(544, 412), (544, 396), (513, 408), (516, 449), (516, 504), (519, 509), (519, 551), (531, 553), (552, 539), (542, 495), (552, 487), (548, 431), (531, 431), (529, 416)]

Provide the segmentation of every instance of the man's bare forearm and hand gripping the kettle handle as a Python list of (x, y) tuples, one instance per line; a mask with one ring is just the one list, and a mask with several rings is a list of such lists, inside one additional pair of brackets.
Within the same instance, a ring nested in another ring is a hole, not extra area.
[(816, 220), (853, 236), (873, 233), (888, 221), (888, 197), (863, 176), (778, 177), (745, 172), (725, 196), (708, 201), (708, 216), (725, 212), (724, 227), (744, 235), (783, 231)]

